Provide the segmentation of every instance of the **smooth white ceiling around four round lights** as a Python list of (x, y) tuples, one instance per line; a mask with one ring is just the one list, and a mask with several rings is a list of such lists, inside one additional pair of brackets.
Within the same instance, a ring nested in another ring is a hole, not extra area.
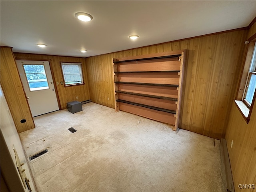
[[(1, 0), (0, 7), (2, 46), (12, 46), (14, 52), (78, 57), (241, 28), (256, 16), (255, 0)], [(82, 22), (76, 12), (93, 19)], [(140, 37), (130, 40), (132, 34)], [(40, 48), (38, 43), (47, 46)]]

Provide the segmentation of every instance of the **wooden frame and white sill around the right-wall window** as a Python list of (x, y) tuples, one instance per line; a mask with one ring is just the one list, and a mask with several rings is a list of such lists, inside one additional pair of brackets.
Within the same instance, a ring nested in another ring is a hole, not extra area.
[[(243, 62), (244, 66), (243, 66), (242, 74), (240, 76), (239, 88), (236, 93), (236, 99), (234, 100), (236, 106), (238, 107), (238, 110), (242, 114), (242, 116), (247, 124), (250, 121), (252, 108), (254, 106), (255, 98), (256, 98), (256, 91), (254, 91), (254, 96), (253, 96), (251, 104), (249, 104), (244, 99), (246, 96), (246, 92), (247, 92), (247, 86), (250, 82), (249, 78), (250, 78), (250, 73), (252, 72), (251, 71), (252, 67), (256, 66), (256, 64), (254, 64), (252, 66), (252, 58), (253, 58), (254, 51), (256, 53), (256, 38), (254, 38), (253, 40), (250, 41), (249, 44), (247, 44), (246, 52), (245, 52), (246, 57)], [(256, 59), (256, 54), (254, 57), (255, 57), (254, 59)], [(254, 73), (254, 72), (252, 72), (252, 73)]]

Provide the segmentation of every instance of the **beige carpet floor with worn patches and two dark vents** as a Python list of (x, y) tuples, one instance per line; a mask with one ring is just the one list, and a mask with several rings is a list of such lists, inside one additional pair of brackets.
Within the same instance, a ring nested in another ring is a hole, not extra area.
[[(220, 141), (95, 103), (20, 133), (38, 192), (222, 192)], [(73, 127), (77, 132), (71, 133)]]

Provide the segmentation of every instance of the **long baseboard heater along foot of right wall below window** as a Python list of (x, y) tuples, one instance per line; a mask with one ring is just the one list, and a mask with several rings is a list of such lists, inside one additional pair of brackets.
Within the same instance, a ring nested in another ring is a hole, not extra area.
[(221, 138), (220, 140), (220, 157), (222, 162), (222, 170), (224, 170), (224, 180), (226, 180), (226, 191), (235, 192), (231, 166), (228, 156), (227, 142), (226, 139), (224, 138)]

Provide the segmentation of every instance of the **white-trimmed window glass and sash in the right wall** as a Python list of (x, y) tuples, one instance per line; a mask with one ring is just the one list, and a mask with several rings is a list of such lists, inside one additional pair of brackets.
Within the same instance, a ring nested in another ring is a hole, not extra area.
[(254, 45), (252, 60), (246, 82), (247, 83), (244, 89), (245, 92), (243, 100), (245, 104), (250, 108), (256, 90), (256, 44)]

